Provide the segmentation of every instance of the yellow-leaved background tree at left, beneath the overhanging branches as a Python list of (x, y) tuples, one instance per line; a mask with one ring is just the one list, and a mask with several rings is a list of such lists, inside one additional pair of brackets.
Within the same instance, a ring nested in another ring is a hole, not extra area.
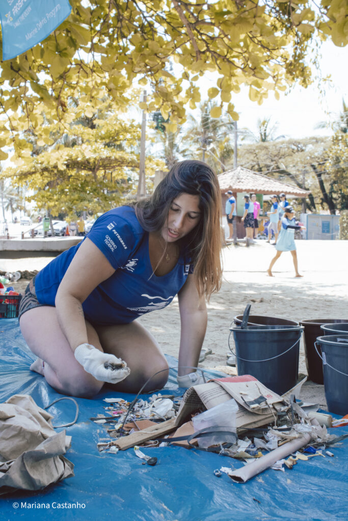
[[(105, 212), (134, 191), (137, 181), (139, 125), (119, 118), (105, 93), (91, 102), (81, 90), (67, 100), (58, 125), (47, 118), (43, 103), (36, 108), (38, 125), (24, 132), (32, 153), (15, 154), (15, 167), (0, 175), (26, 184), (33, 191), (29, 200), (52, 215)], [(147, 167), (157, 168), (151, 156)]]

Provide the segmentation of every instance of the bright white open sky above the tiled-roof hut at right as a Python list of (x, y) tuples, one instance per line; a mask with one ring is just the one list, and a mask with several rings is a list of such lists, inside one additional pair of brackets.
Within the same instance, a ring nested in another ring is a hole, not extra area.
[[(331, 75), (331, 82), (323, 85), (323, 94), (320, 94), (318, 81), (315, 80), (307, 89), (296, 85), (289, 94), (280, 93), (279, 101), (270, 93), (268, 100), (258, 105), (249, 100), (248, 88), (242, 88), (241, 93), (234, 94), (231, 100), (239, 113), (238, 127), (256, 131), (257, 119), (271, 116), (271, 123), (278, 122), (277, 135), (282, 134), (286, 138), (332, 135), (330, 128), (315, 129), (315, 126), (327, 121), (328, 113), (340, 113), (342, 98), (348, 104), (348, 46), (340, 48), (331, 41), (324, 42), (321, 54), (321, 76)], [(207, 89), (212, 85), (209, 84)]]

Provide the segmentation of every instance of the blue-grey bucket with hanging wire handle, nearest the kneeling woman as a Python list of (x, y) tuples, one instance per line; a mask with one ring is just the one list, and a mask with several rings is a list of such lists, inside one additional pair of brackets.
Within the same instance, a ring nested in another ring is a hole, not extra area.
[(296, 385), (302, 326), (233, 326), (230, 330), (238, 375), (252, 375), (278, 394)]

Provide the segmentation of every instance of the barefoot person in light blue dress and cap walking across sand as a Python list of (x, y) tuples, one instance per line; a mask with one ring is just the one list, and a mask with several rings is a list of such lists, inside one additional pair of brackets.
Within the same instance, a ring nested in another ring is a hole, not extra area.
[(283, 252), (290, 252), (292, 255), (294, 268), (295, 268), (295, 277), (303, 277), (298, 273), (297, 266), (297, 253), (296, 253), (296, 245), (295, 245), (295, 230), (306, 229), (304, 226), (299, 226), (296, 224), (295, 213), (292, 206), (286, 206), (284, 208), (284, 217), (282, 218), (282, 227), (279, 234), (279, 239), (277, 244), (275, 245), (275, 249), (277, 253), (271, 260), (271, 264), (267, 270), (268, 275), (273, 277), (272, 268), (274, 266), (275, 261), (279, 259)]

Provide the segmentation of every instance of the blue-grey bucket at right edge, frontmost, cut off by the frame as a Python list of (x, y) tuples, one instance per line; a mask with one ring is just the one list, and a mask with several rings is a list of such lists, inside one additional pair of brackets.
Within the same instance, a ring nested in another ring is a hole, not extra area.
[[(321, 348), (325, 398), (330, 413), (348, 413), (348, 334), (318, 337)], [(319, 352), (318, 352), (319, 356)]]

